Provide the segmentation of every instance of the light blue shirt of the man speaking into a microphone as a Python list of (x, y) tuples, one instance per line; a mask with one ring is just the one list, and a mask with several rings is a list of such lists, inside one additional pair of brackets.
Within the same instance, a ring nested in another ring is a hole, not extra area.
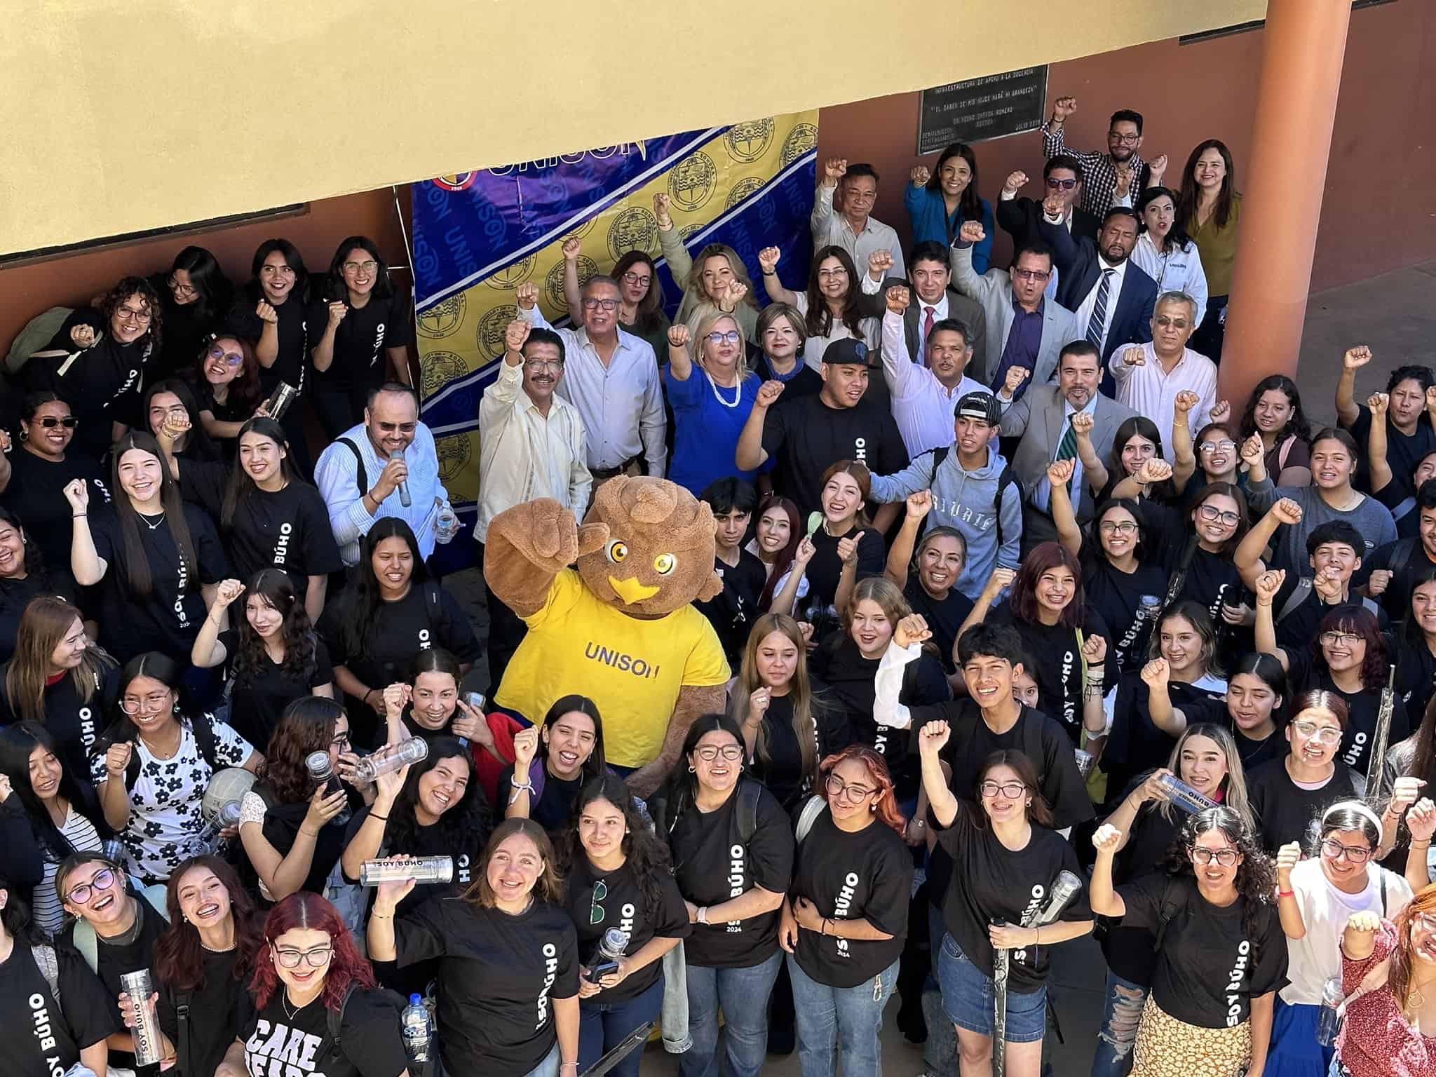
[[(363, 457), (365, 478), (359, 481), (359, 461), (342, 444), (349, 441)], [(314, 464), (314, 485), (319, 487), (320, 497), (329, 508), (329, 526), (335, 530), (335, 541), (339, 544), (339, 556), (345, 564), (359, 563), (359, 549), (363, 537), (373, 527), (373, 521), (393, 516), (404, 520), (414, 528), (414, 537), (419, 541), (419, 556), (428, 559), (434, 553), (434, 518), (444, 501), (448, 501), (448, 491), (439, 481), (439, 460), (434, 449), (434, 435), (422, 422), (414, 429), (414, 441), (404, 451), (404, 462), (409, 465), (409, 507), (404, 507), (399, 491), (395, 490), (379, 503), (379, 511), (370, 514), (365, 507), (363, 495), (379, 481), (388, 457), (379, 457), (369, 441), (369, 431), (360, 422), (340, 434), (329, 447), (319, 454)], [(363, 490), (359, 487), (363, 485)]]

